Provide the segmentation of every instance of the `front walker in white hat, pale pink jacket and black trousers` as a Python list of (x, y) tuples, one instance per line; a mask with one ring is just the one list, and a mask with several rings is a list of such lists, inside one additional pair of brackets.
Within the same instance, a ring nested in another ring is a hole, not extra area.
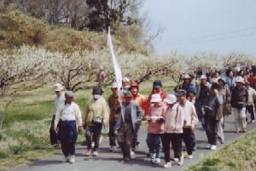
[(176, 104), (177, 98), (175, 95), (169, 94), (164, 100), (167, 109), (164, 113), (165, 133), (162, 136), (162, 144), (165, 153), (166, 164), (164, 168), (171, 168), (172, 162), (170, 160), (170, 143), (172, 142), (172, 149), (174, 151), (174, 161), (178, 165), (183, 164), (182, 141), (183, 141), (183, 124), (184, 113), (183, 108)]

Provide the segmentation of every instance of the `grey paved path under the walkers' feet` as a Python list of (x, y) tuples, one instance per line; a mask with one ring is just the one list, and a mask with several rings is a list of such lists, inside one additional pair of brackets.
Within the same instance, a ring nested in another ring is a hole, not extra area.
[[(224, 145), (229, 145), (231, 142), (237, 138), (243, 136), (244, 134), (235, 134), (235, 124), (234, 116), (226, 118), (224, 135), (226, 143)], [(247, 124), (247, 130), (256, 129), (256, 123)], [(194, 153), (194, 158), (192, 160), (185, 159), (183, 166), (173, 166), (169, 170), (184, 170), (189, 166), (200, 162), (202, 157), (207, 157), (212, 151), (207, 150), (207, 136), (205, 131), (198, 126), (196, 132), (196, 140), (198, 150)], [(108, 146), (108, 140), (102, 142), (100, 148), (99, 157), (84, 157), (85, 147), (79, 147), (77, 149), (76, 162), (73, 164), (61, 162), (61, 153), (55, 154), (54, 157), (49, 157), (38, 162), (32, 162), (28, 165), (21, 166), (20, 168), (13, 169), (14, 171), (157, 171), (163, 170), (162, 165), (164, 163), (163, 154), (161, 154), (161, 163), (153, 164), (149, 162), (148, 157), (146, 157), (146, 151), (148, 151), (146, 140), (146, 130), (142, 128), (139, 133), (139, 139), (141, 145), (137, 151), (136, 159), (133, 159), (129, 163), (122, 162), (122, 155), (120, 151), (110, 152)], [(218, 149), (224, 147), (224, 145), (218, 145)]]

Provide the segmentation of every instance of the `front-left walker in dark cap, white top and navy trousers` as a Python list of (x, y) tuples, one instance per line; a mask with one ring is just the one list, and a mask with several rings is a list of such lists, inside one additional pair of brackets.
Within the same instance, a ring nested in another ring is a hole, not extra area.
[[(61, 150), (64, 154), (63, 162), (75, 162), (75, 144), (78, 139), (77, 123), (79, 132), (82, 131), (82, 114), (75, 102), (73, 92), (65, 93), (66, 105), (58, 109), (55, 116), (55, 132), (58, 132), (61, 140)], [(68, 158), (70, 156), (70, 158)]]

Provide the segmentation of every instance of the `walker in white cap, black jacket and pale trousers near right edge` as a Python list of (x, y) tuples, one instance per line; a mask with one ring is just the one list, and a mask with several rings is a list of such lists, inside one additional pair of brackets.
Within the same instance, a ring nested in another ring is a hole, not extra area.
[(236, 87), (233, 88), (231, 94), (232, 112), (235, 116), (236, 133), (245, 133), (247, 131), (246, 125), (246, 104), (248, 100), (248, 92), (244, 87), (244, 79), (237, 77)]

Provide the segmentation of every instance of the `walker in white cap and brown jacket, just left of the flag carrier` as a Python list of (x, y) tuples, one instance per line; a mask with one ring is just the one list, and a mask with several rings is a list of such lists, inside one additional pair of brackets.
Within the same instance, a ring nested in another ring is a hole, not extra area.
[(115, 124), (119, 120), (121, 105), (118, 95), (118, 85), (113, 83), (111, 87), (112, 94), (108, 98), (108, 105), (110, 108), (109, 114), (109, 145), (110, 151), (116, 151), (116, 134), (115, 134)]

